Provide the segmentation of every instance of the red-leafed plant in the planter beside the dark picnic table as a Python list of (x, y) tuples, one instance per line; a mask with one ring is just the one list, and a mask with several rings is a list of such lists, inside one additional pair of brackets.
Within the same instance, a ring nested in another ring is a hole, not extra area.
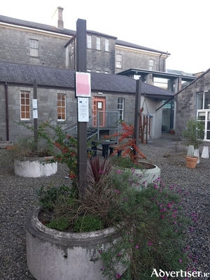
[(119, 137), (119, 144), (115, 147), (113, 154), (115, 155), (118, 151), (122, 151), (123, 157), (130, 157), (132, 162), (137, 163), (138, 160), (146, 158), (144, 153), (141, 153), (139, 147), (136, 145), (136, 139), (134, 139), (134, 125), (127, 125), (125, 122), (121, 122), (122, 132), (116, 132), (112, 135), (106, 135), (105, 139), (111, 139), (113, 137)]

